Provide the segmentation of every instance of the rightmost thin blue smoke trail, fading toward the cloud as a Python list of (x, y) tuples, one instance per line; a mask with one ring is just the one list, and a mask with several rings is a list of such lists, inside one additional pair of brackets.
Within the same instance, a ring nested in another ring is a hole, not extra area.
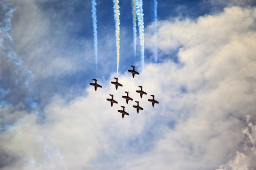
[(153, 21), (154, 21), (154, 35), (156, 37), (155, 40), (155, 50), (154, 50), (154, 58), (155, 63), (158, 63), (158, 0), (154, 0), (154, 6), (153, 6)]

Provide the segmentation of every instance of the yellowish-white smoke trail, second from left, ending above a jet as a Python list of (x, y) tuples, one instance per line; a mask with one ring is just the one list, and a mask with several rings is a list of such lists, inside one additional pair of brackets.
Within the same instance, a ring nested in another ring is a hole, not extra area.
[(120, 15), (120, 11), (119, 11), (119, 0), (113, 0), (114, 2), (114, 18), (115, 18), (115, 24), (116, 24), (116, 39), (117, 39), (117, 74), (118, 74), (118, 68), (119, 68), (119, 34), (120, 34), (120, 20), (119, 20), (119, 15)]

